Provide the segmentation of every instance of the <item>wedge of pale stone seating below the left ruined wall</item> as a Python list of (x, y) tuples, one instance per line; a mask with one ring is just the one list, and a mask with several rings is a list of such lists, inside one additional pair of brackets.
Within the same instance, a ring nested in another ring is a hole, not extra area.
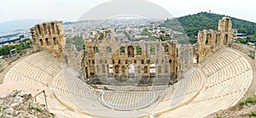
[(48, 87), (53, 76), (61, 71), (61, 64), (47, 52), (34, 53), (21, 60), (5, 75), (5, 81), (20, 81), (26, 84)]

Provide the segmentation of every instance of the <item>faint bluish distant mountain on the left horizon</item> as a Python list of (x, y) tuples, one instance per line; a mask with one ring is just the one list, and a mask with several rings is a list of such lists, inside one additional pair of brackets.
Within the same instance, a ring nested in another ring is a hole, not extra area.
[(8, 22), (1, 22), (0, 23), (0, 32), (20, 30), (20, 29), (29, 29), (33, 25), (42, 23), (44, 21), (47, 21), (47, 20), (13, 20), (13, 21), (8, 21)]

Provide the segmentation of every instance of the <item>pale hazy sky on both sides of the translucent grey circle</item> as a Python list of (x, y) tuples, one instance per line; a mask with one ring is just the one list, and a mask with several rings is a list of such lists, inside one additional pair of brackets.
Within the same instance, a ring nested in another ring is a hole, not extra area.
[[(0, 22), (9, 20), (78, 20), (90, 8), (110, 0), (0, 0)], [(148, 0), (174, 17), (209, 11), (256, 22), (255, 0)]]

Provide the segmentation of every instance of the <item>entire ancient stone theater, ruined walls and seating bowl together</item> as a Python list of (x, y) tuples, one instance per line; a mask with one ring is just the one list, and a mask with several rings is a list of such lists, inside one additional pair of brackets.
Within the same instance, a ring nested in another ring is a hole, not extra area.
[(47, 96), (37, 101), (57, 117), (205, 117), (255, 93), (254, 52), (235, 42), (228, 17), (199, 31), (195, 44), (130, 41), (109, 29), (77, 51), (61, 21), (31, 32), (34, 53), (3, 83), (41, 87)]

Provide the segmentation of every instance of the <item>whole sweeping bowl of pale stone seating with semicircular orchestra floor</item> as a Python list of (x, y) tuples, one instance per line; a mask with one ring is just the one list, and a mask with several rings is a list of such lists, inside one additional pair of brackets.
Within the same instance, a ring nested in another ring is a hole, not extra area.
[[(12, 67), (3, 82), (48, 87), (49, 110), (60, 117), (203, 117), (237, 104), (251, 85), (253, 70), (240, 54), (221, 48), (164, 91), (98, 90), (78, 76), (40, 52)], [(44, 103), (44, 97), (40, 100)]]

